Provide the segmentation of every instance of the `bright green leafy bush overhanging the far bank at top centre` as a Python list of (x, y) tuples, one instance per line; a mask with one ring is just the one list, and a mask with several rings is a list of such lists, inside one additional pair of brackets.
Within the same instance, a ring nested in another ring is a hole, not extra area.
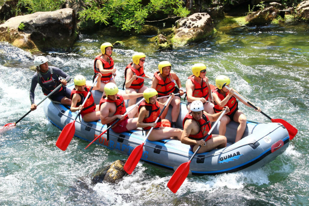
[(168, 17), (186, 17), (189, 11), (182, 0), (150, 0), (147, 5), (142, 0), (85, 0), (86, 10), (79, 12), (79, 19), (95, 23), (112, 24), (123, 31), (139, 32), (146, 18), (164, 13)]

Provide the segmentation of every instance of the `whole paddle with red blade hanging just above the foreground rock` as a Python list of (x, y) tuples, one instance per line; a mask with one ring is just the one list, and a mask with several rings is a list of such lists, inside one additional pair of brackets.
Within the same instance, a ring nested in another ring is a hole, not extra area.
[[(169, 101), (171, 100), (171, 96), (167, 99), (163, 109), (161, 110), (159, 116), (157, 117), (157, 119), (155, 120), (155, 123), (158, 122), (158, 120), (160, 119), (160, 116), (162, 115), (165, 107), (167, 106), (167, 104), (169, 103)], [(123, 169), (128, 173), (128, 174), (132, 174), (133, 170), (135, 169), (138, 161), (141, 159), (142, 157), (142, 154), (143, 154), (143, 146), (147, 140), (147, 138), (149, 137), (151, 131), (153, 130), (154, 128), (151, 127), (144, 142), (141, 144), (141, 145), (138, 145), (137, 147), (135, 147), (132, 151), (132, 153), (130, 154), (127, 162), (125, 162), (125, 166), (123, 166)]]

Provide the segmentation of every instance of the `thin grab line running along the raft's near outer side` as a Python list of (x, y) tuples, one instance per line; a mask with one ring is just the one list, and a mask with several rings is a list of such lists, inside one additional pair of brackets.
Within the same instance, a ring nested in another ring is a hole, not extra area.
[[(59, 110), (58, 107), (57, 107), (57, 109)], [(60, 111), (60, 110), (59, 110), (59, 111)], [(60, 112), (61, 112), (61, 111), (60, 111)], [(69, 116), (65, 115), (64, 113), (62, 113), (62, 112), (61, 112), (61, 114), (62, 114), (63, 116), (69, 117)], [(74, 119), (74, 118), (72, 118), (72, 117), (69, 117), (69, 118), (72, 119), (72, 120)], [(83, 124), (84, 126), (86, 126), (86, 127), (89, 128), (88, 125), (86, 125), (86, 124), (84, 124), (84, 123), (82, 123), (82, 122), (79, 122), (79, 123), (81, 123), (81, 124)], [(103, 124), (103, 125), (105, 125), (105, 124)], [(269, 132), (268, 134), (266, 134), (265, 136), (261, 137), (260, 139), (262, 139), (262, 138), (266, 137), (267, 135), (269, 135), (270, 133), (274, 132), (274, 131), (275, 131), (276, 129), (278, 129), (279, 127), (281, 127), (281, 125), (279, 125), (279, 126), (278, 126), (277, 128), (275, 128), (275, 129), (273, 129), (273, 131)], [(98, 129), (93, 128), (93, 127), (90, 127), (90, 128), (94, 129), (95, 131), (102, 132), (102, 130), (98, 130)], [(125, 138), (123, 138), (123, 137), (118, 137), (118, 138), (125, 139)], [(259, 141), (260, 139), (258, 139), (258, 140), (256, 140), (256, 141), (248, 142), (248, 143), (246, 143), (246, 144), (239, 145), (239, 146), (237, 146), (237, 147), (234, 147), (234, 148), (231, 148), (231, 149), (228, 149), (228, 150), (224, 150), (224, 151), (221, 151), (221, 152), (218, 152), (218, 153), (206, 155), (206, 156), (204, 156), (204, 157), (194, 157), (194, 158), (196, 158), (196, 159), (202, 159), (202, 158), (206, 158), (206, 157), (210, 157), (210, 156), (215, 156), (215, 155), (219, 155), (219, 154), (222, 154), (222, 153), (226, 153), (226, 152), (229, 152), (229, 151), (231, 151), (231, 150), (233, 150), (233, 149), (237, 149), (237, 148), (242, 147), (242, 146), (254, 144), (254, 143), (256, 143), (257, 141)], [(139, 143), (140, 143), (140, 142), (135, 142), (135, 141), (132, 141), (132, 140), (128, 140), (128, 141), (129, 141), (129, 142), (132, 142), (132, 143), (136, 143), (136, 144), (139, 144)], [(150, 146), (150, 145), (144, 145), (144, 146), (145, 146), (145, 147), (152, 148), (152, 149), (158, 149), (158, 148), (155, 148), (155, 147)], [(188, 157), (188, 155), (180, 154), (180, 153), (177, 153), (177, 152), (172, 152), (172, 151), (168, 151), (168, 150), (165, 150), (165, 149), (160, 149), (160, 150), (163, 151), (163, 152), (169, 152), (169, 153), (174, 153), (174, 154), (182, 155), (182, 156), (184, 156), (184, 157)]]

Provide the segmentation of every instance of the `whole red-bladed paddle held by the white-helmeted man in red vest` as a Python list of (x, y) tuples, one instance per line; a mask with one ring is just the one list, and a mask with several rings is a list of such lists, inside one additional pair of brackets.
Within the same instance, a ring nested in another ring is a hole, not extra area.
[[(207, 133), (207, 135), (204, 138), (204, 141), (207, 139), (207, 137), (210, 135), (210, 133), (213, 131), (215, 126), (218, 124), (220, 121), (221, 117), (225, 114), (226, 110), (223, 110), (221, 115), (219, 116), (218, 120), (214, 123), (214, 125), (211, 127), (210, 131)], [(193, 160), (194, 156), (197, 154), (198, 150), (201, 148), (201, 145), (198, 146), (197, 150), (194, 152), (192, 157), (188, 162), (182, 163), (177, 170), (174, 172), (172, 175), (170, 181), (167, 183), (167, 187), (170, 188), (170, 190), (174, 193), (177, 192), (179, 187), (182, 185), (184, 180), (187, 178), (189, 174), (189, 169), (190, 169), (190, 162)]]

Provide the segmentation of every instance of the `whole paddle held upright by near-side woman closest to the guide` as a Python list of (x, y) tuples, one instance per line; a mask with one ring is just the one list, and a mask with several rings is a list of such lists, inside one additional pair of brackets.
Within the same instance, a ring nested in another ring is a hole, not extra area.
[[(92, 86), (91, 86), (91, 88), (90, 88), (90, 90), (89, 90), (89, 92), (88, 92), (88, 94), (87, 94), (87, 96), (86, 96), (82, 106), (84, 106), (84, 104), (86, 103), (89, 95), (91, 94), (91, 90), (92, 90), (93, 86), (96, 84), (96, 81), (98, 80), (98, 77), (99, 76), (97, 76), (95, 78), (95, 80), (94, 80), (94, 82), (93, 82), (93, 84), (92, 84)], [(71, 140), (72, 140), (72, 138), (74, 136), (74, 133), (75, 133), (75, 121), (76, 121), (76, 119), (77, 119), (77, 117), (78, 117), (78, 115), (80, 114), (81, 111), (82, 110), (78, 110), (78, 114), (76, 115), (74, 121), (69, 123), (69, 124), (67, 124), (62, 129), (62, 131), (61, 131), (61, 133), (60, 133), (60, 135), (59, 135), (59, 137), (57, 139), (57, 142), (56, 142), (56, 146), (59, 149), (65, 151), (66, 148), (69, 146), (69, 144), (70, 144), (70, 142), (71, 142)]]

